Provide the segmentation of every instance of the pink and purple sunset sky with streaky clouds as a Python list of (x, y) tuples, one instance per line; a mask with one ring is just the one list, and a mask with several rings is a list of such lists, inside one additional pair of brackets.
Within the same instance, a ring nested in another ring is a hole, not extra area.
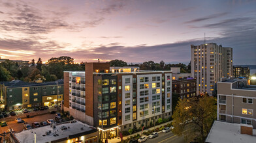
[(187, 64), (204, 32), (234, 64), (256, 64), (255, 0), (0, 0), (1, 59)]

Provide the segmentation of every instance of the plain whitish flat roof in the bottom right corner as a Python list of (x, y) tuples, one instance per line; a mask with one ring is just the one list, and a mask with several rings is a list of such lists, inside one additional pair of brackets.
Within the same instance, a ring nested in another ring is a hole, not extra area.
[(240, 124), (215, 121), (205, 142), (255, 143), (256, 136), (240, 134)]

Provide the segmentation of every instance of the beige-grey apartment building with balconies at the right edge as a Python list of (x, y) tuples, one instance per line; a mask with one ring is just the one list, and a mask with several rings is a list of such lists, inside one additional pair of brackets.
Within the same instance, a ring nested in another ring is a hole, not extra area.
[(255, 111), (256, 86), (234, 78), (223, 78), (217, 83), (217, 120), (256, 129)]

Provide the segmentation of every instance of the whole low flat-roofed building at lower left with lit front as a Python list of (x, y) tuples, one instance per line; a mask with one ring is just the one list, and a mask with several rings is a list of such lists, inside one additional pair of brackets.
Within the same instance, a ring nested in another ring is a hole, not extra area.
[(98, 135), (96, 128), (73, 120), (11, 134), (10, 142), (97, 143)]

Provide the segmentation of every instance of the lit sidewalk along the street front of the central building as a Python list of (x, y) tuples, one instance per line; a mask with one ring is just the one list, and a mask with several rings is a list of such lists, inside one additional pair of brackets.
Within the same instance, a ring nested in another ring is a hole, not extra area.
[[(160, 125), (155, 125), (155, 127), (150, 127), (150, 128), (148, 128), (148, 129), (144, 129), (143, 130), (143, 132), (144, 131), (150, 131), (150, 130), (153, 130), (153, 129), (155, 129), (155, 128), (157, 128), (157, 127), (161, 127), (161, 126), (163, 126), (163, 125), (167, 125), (168, 123), (171, 123), (172, 121), (169, 121), (169, 122), (166, 122), (166, 123), (161, 123)], [(161, 133), (162, 131), (159, 131), (158, 133)], [(140, 135), (142, 135), (141, 134), (141, 131), (139, 131), (139, 132), (137, 132), (137, 133), (133, 133), (132, 135), (127, 135), (127, 136), (123, 136), (123, 140), (127, 140), (127, 138), (129, 138), (130, 136), (135, 136), (135, 135), (137, 135), (137, 134), (140, 134)], [(142, 135), (142, 136), (146, 136), (146, 135)], [(148, 137), (148, 136), (146, 136), (146, 137)], [(112, 138), (112, 139), (108, 139), (108, 142), (109, 143), (115, 143), (115, 142), (121, 142), (121, 138), (120, 137), (116, 137), (116, 138)]]

